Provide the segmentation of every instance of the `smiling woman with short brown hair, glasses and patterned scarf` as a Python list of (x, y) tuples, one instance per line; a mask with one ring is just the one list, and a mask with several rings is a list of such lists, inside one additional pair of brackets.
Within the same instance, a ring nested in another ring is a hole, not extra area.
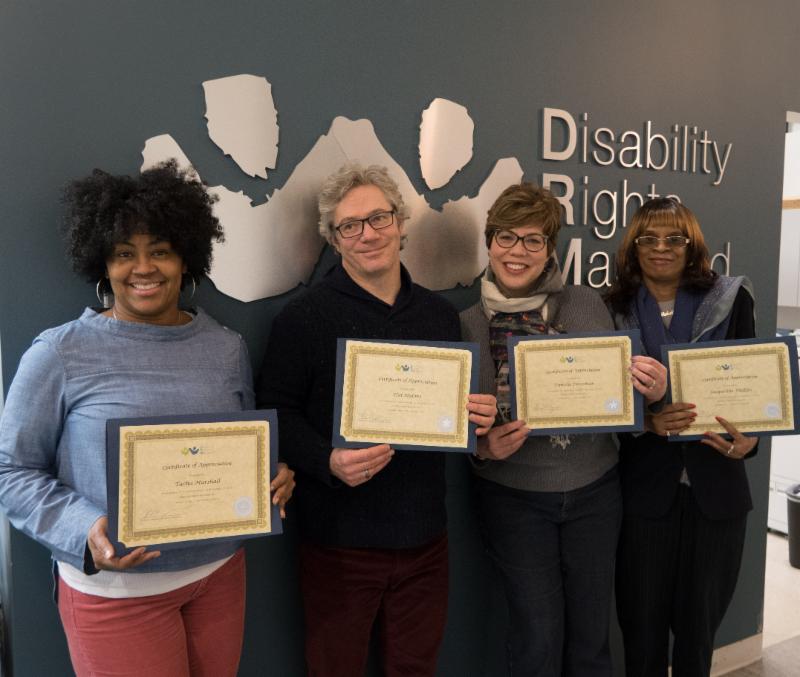
[[(489, 266), (481, 300), (461, 314), (480, 343), (480, 392), (498, 418), (474, 462), (480, 524), (509, 607), (514, 675), (612, 674), (609, 610), (622, 503), (610, 434), (528, 437), (511, 419), (508, 336), (611, 331), (600, 296), (565, 286), (554, 250), (561, 206), (529, 183), (507, 188), (486, 225)], [(659, 400), (666, 370), (635, 357), (635, 387)]]

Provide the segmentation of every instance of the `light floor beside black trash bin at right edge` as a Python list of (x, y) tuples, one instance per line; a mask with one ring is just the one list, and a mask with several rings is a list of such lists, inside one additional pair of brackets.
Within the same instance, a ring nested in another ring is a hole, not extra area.
[(800, 675), (800, 569), (789, 564), (786, 537), (774, 533), (767, 535), (763, 638), (761, 660), (727, 677)]

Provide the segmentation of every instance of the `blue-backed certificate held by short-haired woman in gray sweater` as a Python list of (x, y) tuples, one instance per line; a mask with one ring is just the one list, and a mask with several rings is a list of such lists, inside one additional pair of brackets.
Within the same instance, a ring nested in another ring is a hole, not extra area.
[(630, 376), (639, 344), (635, 330), (509, 337), (512, 416), (530, 435), (642, 430)]

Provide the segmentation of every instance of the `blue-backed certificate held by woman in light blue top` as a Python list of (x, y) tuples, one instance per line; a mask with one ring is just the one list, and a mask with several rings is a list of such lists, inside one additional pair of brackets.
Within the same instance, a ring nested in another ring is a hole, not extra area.
[(164, 550), (281, 533), (274, 410), (111, 419), (109, 539)]

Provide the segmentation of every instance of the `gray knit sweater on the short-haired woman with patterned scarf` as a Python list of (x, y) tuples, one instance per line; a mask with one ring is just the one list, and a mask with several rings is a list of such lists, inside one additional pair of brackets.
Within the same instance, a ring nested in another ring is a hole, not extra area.
[[(567, 332), (612, 331), (614, 324), (600, 295), (588, 287), (564, 287), (547, 300), (553, 324)], [(495, 367), (489, 350), (489, 320), (476, 303), (461, 313), (464, 341), (481, 346), (479, 392), (494, 393)], [(529, 437), (505, 461), (475, 463), (475, 472), (498, 484), (525, 491), (572, 491), (602, 477), (617, 463), (609, 433)]]

